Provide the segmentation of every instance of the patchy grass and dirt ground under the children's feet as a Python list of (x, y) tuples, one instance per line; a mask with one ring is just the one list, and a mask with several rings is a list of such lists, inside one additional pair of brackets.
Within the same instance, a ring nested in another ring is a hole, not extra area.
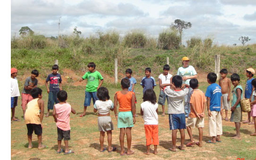
[[(20, 91), (22, 91), (23, 82), (19, 82)], [(244, 87), (245, 83), (242, 82)], [(111, 100), (116, 91), (119, 91), (119, 87), (115, 87), (112, 84), (103, 83), (109, 89)], [(208, 84), (206, 82), (200, 83), (200, 89), (204, 92)], [(39, 86), (43, 89), (43, 100), (45, 102), (45, 110), (47, 110), (48, 94), (45, 86)], [(171, 131), (169, 129), (168, 115), (162, 117), (162, 107), (159, 105), (159, 141), (158, 155), (153, 153), (145, 155), (145, 131), (144, 121), (139, 115), (136, 118), (136, 124), (132, 128), (132, 150), (135, 152), (131, 156), (119, 155), (119, 129), (117, 128), (117, 121), (114, 118), (114, 113), (111, 112), (112, 122), (114, 124), (114, 130), (112, 134), (112, 145), (118, 148), (117, 152), (99, 152), (99, 132), (97, 126), (97, 114), (93, 113), (93, 105), (87, 109), (86, 116), (80, 118), (79, 115), (83, 111), (83, 103), (85, 96), (85, 86), (70, 86), (63, 85), (63, 89), (68, 92), (68, 103), (76, 109), (77, 114), (70, 114), (70, 126), (71, 126), (71, 140), (69, 141), (69, 147), (75, 153), (69, 155), (57, 154), (57, 127), (53, 117), (50, 114), (49, 118), (43, 118), (43, 144), (48, 148), (44, 150), (38, 150), (37, 137), (33, 134), (33, 145), (35, 148), (28, 149), (27, 141), (27, 129), (24, 119), (22, 118), (21, 109), (21, 97), (18, 99), (18, 106), (16, 107), (16, 117), (21, 119), (19, 122), (11, 123), (11, 159), (12, 160), (28, 160), (30, 158), (40, 158), (42, 160), (48, 159), (185, 159), (185, 160), (198, 160), (198, 159), (212, 159), (221, 160), (229, 159), (236, 160), (237, 158), (244, 158), (245, 160), (255, 160), (256, 158), (256, 138), (249, 136), (254, 132), (254, 126), (241, 124), (241, 136), (242, 140), (233, 140), (230, 136), (235, 134), (234, 123), (229, 121), (222, 121), (223, 135), (221, 136), (222, 142), (216, 144), (207, 144), (205, 141), (209, 140), (208, 136), (208, 116), (205, 118), (205, 128), (203, 137), (203, 147), (199, 148), (196, 145), (193, 147), (186, 147), (185, 151), (177, 150), (177, 152), (170, 152), (168, 148), (171, 147)], [(135, 85), (137, 93), (142, 93), (142, 87), (139, 85), (138, 80)], [(159, 95), (159, 86), (154, 89), (156, 95)], [(142, 94), (137, 94), (137, 113), (140, 111), (140, 103), (142, 103)], [(167, 103), (166, 103), (167, 104)], [(166, 105), (167, 110), (167, 105)], [(46, 112), (46, 111), (45, 111)], [(52, 111), (51, 111), (52, 112)], [(206, 113), (206, 112), (205, 112)], [(230, 116), (230, 112), (229, 112)], [(243, 119), (247, 118), (247, 113), (243, 113)], [(189, 136), (186, 132), (185, 143), (189, 141)], [(198, 141), (198, 130), (194, 128), (192, 130), (194, 138)], [(177, 145), (180, 144), (180, 135), (178, 133)], [(64, 148), (64, 142), (62, 142)], [(105, 137), (104, 145), (107, 146), (107, 138)], [(127, 143), (125, 142), (125, 146)], [(152, 146), (153, 149), (153, 146)]]

